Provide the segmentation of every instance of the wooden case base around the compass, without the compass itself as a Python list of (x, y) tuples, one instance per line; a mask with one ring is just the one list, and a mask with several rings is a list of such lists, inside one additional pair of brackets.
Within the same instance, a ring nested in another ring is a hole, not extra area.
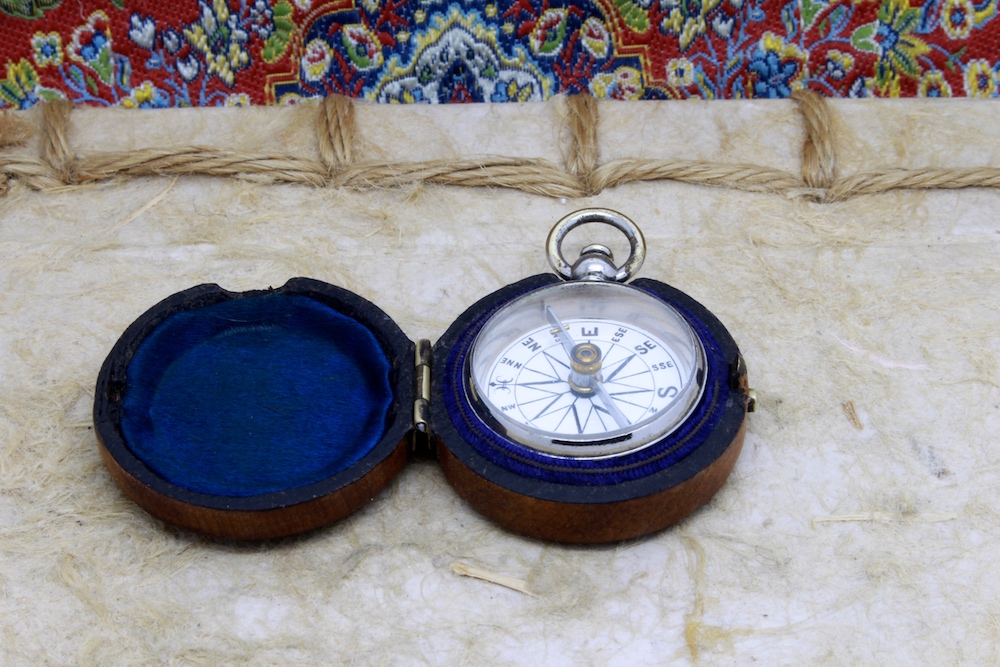
[(732, 337), (704, 306), (654, 280), (630, 283), (681, 314), (704, 347), (705, 391), (673, 432), (640, 450), (570, 458), (526, 447), (484, 419), (471, 399), (469, 357), (489, 318), (514, 299), (560, 282), (540, 275), (469, 308), (434, 347), (433, 431), (452, 486), (511, 530), (560, 542), (612, 542), (669, 526), (722, 486), (739, 456), (747, 412), (746, 367)]

